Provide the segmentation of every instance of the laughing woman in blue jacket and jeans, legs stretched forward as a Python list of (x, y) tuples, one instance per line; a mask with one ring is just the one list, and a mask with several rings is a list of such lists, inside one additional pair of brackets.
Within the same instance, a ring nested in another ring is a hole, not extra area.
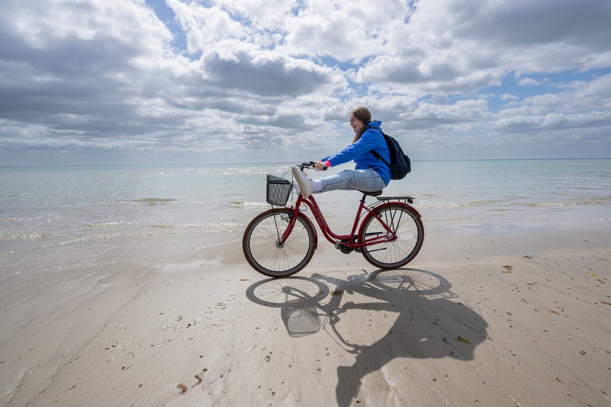
[(344, 164), (354, 160), (354, 170), (343, 170), (335, 175), (321, 179), (312, 179), (293, 166), (293, 176), (299, 185), (304, 198), (312, 193), (326, 192), (337, 189), (353, 189), (365, 192), (376, 192), (384, 189), (390, 182), (390, 170), (382, 160), (376, 158), (371, 151), (376, 151), (386, 162), (390, 162), (390, 152), (380, 129), (381, 121), (371, 120), (369, 109), (364, 106), (355, 107), (350, 112), (350, 125), (354, 130), (351, 145), (342, 151), (320, 161), (315, 167), (324, 170), (326, 167)]

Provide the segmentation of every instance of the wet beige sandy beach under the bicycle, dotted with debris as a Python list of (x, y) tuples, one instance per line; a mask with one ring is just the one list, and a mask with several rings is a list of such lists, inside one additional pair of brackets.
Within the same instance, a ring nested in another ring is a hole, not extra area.
[(236, 242), (5, 275), (0, 405), (611, 405), (611, 232), (432, 236), (390, 272)]

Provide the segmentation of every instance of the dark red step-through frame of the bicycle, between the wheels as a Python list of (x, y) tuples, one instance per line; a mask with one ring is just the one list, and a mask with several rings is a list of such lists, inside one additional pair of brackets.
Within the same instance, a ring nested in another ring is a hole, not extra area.
[[(291, 232), (293, 231), (293, 226), (295, 226), (297, 214), (299, 214), (299, 212), (303, 213), (302, 211), (299, 210), (299, 208), (301, 207), (301, 204), (305, 204), (305, 206), (310, 208), (310, 211), (312, 211), (312, 214), (314, 215), (314, 219), (316, 220), (316, 223), (318, 223), (318, 226), (320, 226), (320, 229), (323, 232), (324, 237), (327, 240), (329, 240), (329, 242), (334, 243), (336, 247), (338, 247), (338, 245), (341, 242), (345, 247), (348, 247), (351, 250), (359, 250), (360, 248), (365, 247), (365, 246), (375, 245), (378, 243), (388, 242), (390, 240), (397, 239), (397, 236), (392, 231), (392, 229), (389, 228), (387, 223), (384, 222), (384, 220), (382, 220), (382, 218), (379, 217), (379, 215), (376, 214), (376, 212), (372, 210), (373, 207), (379, 206), (379, 202), (374, 203), (372, 206), (368, 207), (365, 205), (365, 196), (366, 195), (364, 194), (363, 197), (360, 199), (359, 208), (357, 209), (356, 216), (354, 217), (354, 223), (352, 225), (350, 234), (342, 235), (342, 234), (335, 234), (331, 230), (331, 228), (329, 228), (329, 224), (325, 220), (323, 212), (320, 210), (320, 207), (318, 207), (318, 204), (316, 203), (316, 200), (314, 199), (313, 195), (310, 195), (309, 198), (304, 198), (303, 196), (299, 195), (295, 203), (295, 206), (290, 207), (290, 208), (287, 207), (287, 209), (291, 210), (292, 214), (290, 217), (289, 225), (287, 229), (285, 230), (284, 234), (282, 234), (282, 236), (280, 237), (279, 243), (284, 244), (284, 242), (288, 239), (288, 236), (290, 236)], [(400, 203), (400, 202), (397, 202), (397, 203)], [(391, 202), (387, 202), (384, 204), (391, 204)], [(369, 212), (371, 215), (376, 217), (378, 221), (380, 222), (380, 224), (384, 226), (384, 229), (386, 229), (386, 234), (384, 236), (373, 237), (372, 239), (366, 240), (365, 242), (357, 243), (357, 242), (354, 242), (354, 239), (356, 239), (356, 231), (359, 226), (359, 220), (362, 217), (362, 215), (364, 214), (364, 212)]]

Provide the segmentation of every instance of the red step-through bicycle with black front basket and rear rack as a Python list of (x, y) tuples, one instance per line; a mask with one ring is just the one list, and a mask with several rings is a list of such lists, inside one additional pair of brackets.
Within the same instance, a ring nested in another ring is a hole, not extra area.
[[(300, 169), (315, 168), (313, 164), (304, 162)], [(376, 267), (392, 269), (406, 265), (422, 247), (424, 226), (421, 215), (411, 206), (414, 203), (411, 196), (378, 196), (381, 191), (360, 191), (363, 197), (351, 232), (343, 235), (331, 231), (313, 195), (304, 198), (300, 194), (295, 206), (285, 206), (292, 190), (293, 182), (268, 175), (266, 198), (272, 207), (257, 215), (244, 231), (244, 256), (263, 275), (290, 276), (312, 259), (318, 236), (312, 220), (304, 215), (308, 208), (324, 237), (335, 248), (346, 254), (361, 253)], [(367, 195), (378, 196), (378, 199), (366, 205)]]

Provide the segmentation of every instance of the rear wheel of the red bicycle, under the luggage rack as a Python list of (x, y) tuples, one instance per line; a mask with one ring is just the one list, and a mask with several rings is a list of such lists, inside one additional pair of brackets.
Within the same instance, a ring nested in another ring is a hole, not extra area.
[(402, 203), (384, 204), (374, 209), (386, 223), (395, 240), (384, 240), (387, 231), (378, 218), (369, 214), (359, 230), (359, 243), (381, 240), (361, 249), (364, 258), (379, 268), (390, 270), (411, 262), (420, 251), (424, 240), (424, 226), (418, 212)]

